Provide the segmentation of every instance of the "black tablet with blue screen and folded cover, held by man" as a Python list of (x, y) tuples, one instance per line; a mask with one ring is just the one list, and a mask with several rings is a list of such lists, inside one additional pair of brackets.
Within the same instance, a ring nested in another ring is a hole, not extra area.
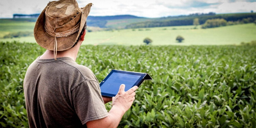
[(125, 84), (125, 91), (127, 91), (133, 86), (139, 87), (144, 80), (152, 80), (152, 78), (147, 73), (113, 69), (100, 83), (101, 95), (114, 97), (121, 84)]

